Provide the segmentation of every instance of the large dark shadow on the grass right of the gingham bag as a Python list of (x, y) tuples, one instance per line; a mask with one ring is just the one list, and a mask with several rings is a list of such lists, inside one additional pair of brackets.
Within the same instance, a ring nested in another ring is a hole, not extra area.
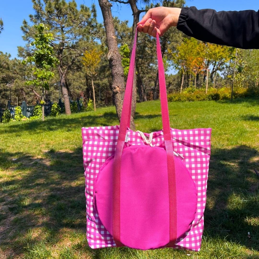
[(259, 250), (259, 178), (253, 171), (259, 168), (258, 152), (247, 146), (212, 152), (205, 233)]

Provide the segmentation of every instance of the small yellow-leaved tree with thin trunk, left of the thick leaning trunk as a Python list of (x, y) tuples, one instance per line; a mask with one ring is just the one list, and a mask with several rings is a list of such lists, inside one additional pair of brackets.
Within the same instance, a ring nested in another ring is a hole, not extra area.
[(102, 51), (98, 50), (96, 47), (93, 47), (90, 50), (86, 50), (82, 57), (82, 63), (85, 67), (85, 71), (87, 75), (91, 77), (91, 80), (92, 80), (94, 111), (96, 111), (96, 105), (95, 105), (95, 87), (93, 85), (93, 78), (97, 75), (102, 54), (103, 54)]

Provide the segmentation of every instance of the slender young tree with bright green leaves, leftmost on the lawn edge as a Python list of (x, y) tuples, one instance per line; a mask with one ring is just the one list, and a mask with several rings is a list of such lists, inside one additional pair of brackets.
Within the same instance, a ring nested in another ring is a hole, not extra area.
[(35, 47), (33, 55), (24, 60), (24, 64), (28, 62), (34, 64), (32, 67), (33, 76), (31, 80), (26, 81), (26, 85), (42, 89), (42, 120), (44, 120), (44, 89), (49, 89), (49, 80), (54, 76), (51, 69), (58, 63), (58, 59), (53, 56), (54, 50), (51, 46), (53, 34), (46, 33), (48, 28), (42, 23), (34, 25), (34, 27), (37, 29), (37, 33), (31, 43), (31, 46)]

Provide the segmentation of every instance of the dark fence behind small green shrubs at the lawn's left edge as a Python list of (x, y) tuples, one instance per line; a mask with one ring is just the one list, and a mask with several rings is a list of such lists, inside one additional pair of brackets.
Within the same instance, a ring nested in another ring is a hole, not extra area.
[[(74, 103), (74, 102), (77, 103), (78, 111), (81, 111), (82, 110), (82, 103), (80, 103), (79, 98), (77, 98), (76, 101), (70, 100), (70, 103)], [(37, 101), (37, 105), (42, 106), (42, 104), (39, 104), (38, 101)], [(51, 107), (52, 107), (52, 105), (53, 105), (53, 102), (51, 102), (51, 100), (47, 100), (46, 104), (44, 104), (44, 115), (45, 116), (49, 116), (51, 114)], [(59, 99), (58, 105), (61, 108), (61, 113), (64, 113), (65, 112), (65, 105), (61, 101), (61, 99)], [(21, 111), (22, 111), (23, 116), (25, 116), (27, 118), (31, 117), (33, 115), (33, 111), (34, 111), (34, 107), (35, 106), (36, 105), (28, 106), (27, 103), (25, 101), (23, 101), (21, 103)], [(6, 109), (2, 109), (0, 107), (0, 121), (2, 121), (3, 113), (4, 113), (5, 110), (9, 110), (10, 114), (11, 114), (11, 117), (14, 118), (16, 107), (17, 107), (17, 105), (11, 105), (10, 101), (8, 101)]]

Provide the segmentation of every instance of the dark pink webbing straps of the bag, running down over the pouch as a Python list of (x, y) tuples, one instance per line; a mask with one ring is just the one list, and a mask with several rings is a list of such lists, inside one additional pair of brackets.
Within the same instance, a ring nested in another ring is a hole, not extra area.
[[(120, 242), (120, 168), (121, 168), (121, 155), (124, 148), (127, 126), (130, 123), (131, 117), (131, 101), (133, 78), (135, 71), (135, 56), (136, 56), (136, 43), (137, 43), (138, 27), (136, 28), (135, 41), (132, 48), (130, 68), (126, 83), (125, 95), (123, 100), (123, 107), (120, 118), (119, 135), (115, 149), (114, 162), (113, 162), (113, 192), (112, 192), (112, 221), (113, 221), (113, 239), (116, 246), (123, 246)], [(164, 75), (164, 66), (162, 60), (162, 53), (160, 47), (160, 40), (158, 33), (156, 34), (156, 52), (159, 74), (159, 91), (161, 101), (161, 113), (163, 124), (163, 136), (167, 153), (167, 169), (168, 169), (168, 187), (169, 187), (169, 243), (168, 246), (173, 246), (177, 238), (176, 231), (176, 180), (175, 180), (175, 163), (174, 151), (171, 141), (166, 80)]]

